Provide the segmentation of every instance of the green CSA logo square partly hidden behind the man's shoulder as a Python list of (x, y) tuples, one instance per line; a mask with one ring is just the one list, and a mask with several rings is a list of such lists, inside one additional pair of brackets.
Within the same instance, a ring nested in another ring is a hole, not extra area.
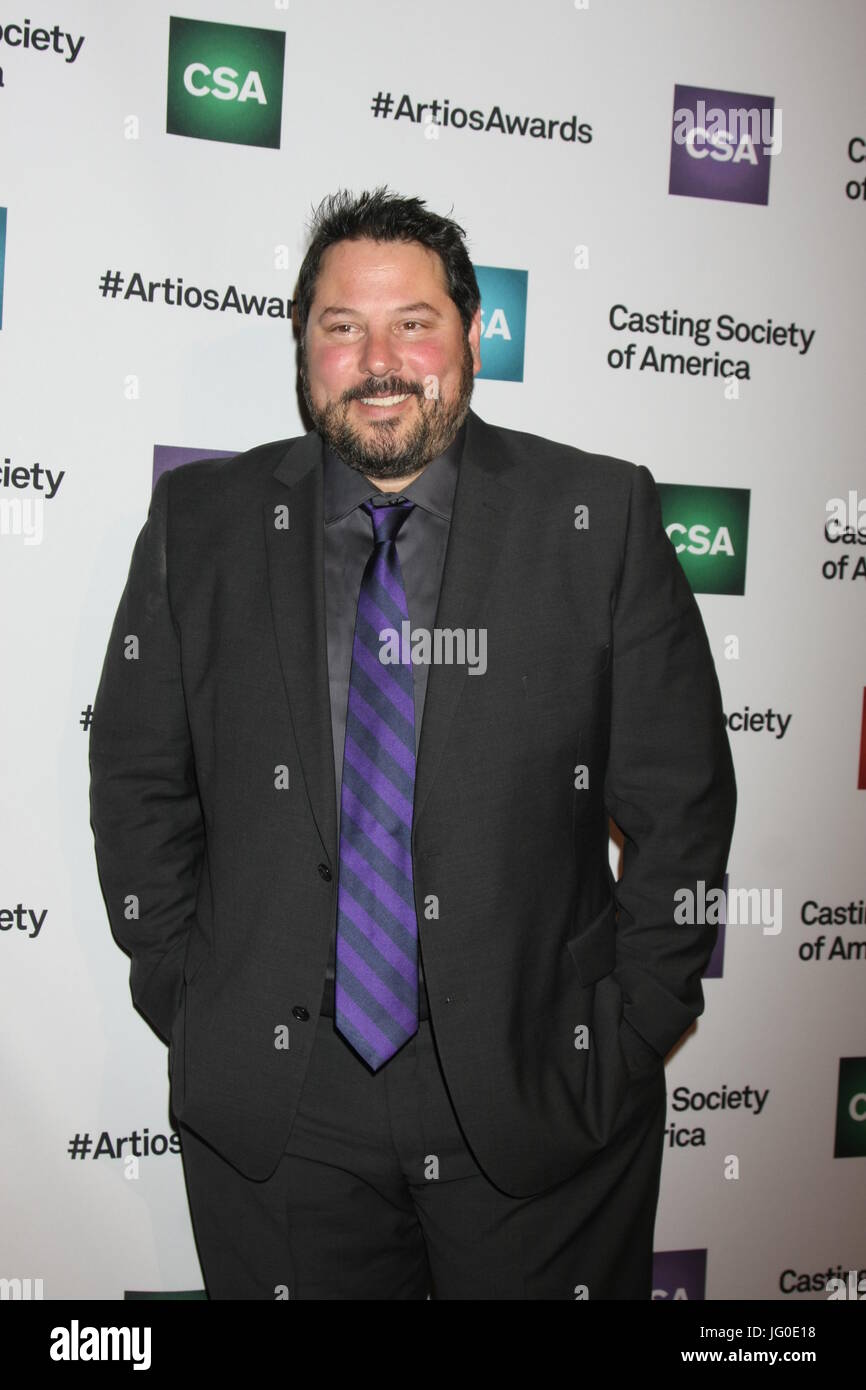
[(745, 594), (748, 488), (659, 482), (664, 530), (695, 594)]

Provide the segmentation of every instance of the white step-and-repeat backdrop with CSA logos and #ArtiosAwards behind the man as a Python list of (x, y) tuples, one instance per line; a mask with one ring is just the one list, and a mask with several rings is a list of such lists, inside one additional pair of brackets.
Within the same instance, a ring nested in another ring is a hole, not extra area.
[(859, 0), (3, 4), (3, 1297), (203, 1289), (90, 709), (154, 470), (303, 431), (310, 210), (381, 183), (467, 231), (478, 414), (649, 467), (719, 670), (655, 1294), (866, 1275), (865, 46)]

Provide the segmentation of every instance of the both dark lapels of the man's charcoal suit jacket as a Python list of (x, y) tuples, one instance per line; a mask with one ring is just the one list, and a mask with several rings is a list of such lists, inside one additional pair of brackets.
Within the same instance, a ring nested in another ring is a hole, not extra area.
[[(484, 627), (509, 513), (517, 502), (505, 482), (502, 443), (474, 411), (452, 512), (435, 627)], [(289, 507), (277, 530), (275, 509)], [(336, 785), (324, 589), (321, 439), (313, 431), (291, 445), (277, 466), (263, 506), (271, 613), (306, 791), (325, 853), (338, 863)], [(416, 769), (413, 848), (434, 785), (450, 721), (467, 680), (466, 666), (432, 666)]]

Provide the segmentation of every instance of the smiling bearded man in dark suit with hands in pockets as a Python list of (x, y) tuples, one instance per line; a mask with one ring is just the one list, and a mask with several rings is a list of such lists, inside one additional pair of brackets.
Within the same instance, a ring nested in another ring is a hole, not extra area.
[(209, 1294), (648, 1298), (735, 808), (653, 480), (470, 410), (417, 199), (325, 200), (296, 321), (316, 428), (158, 480), (90, 737)]

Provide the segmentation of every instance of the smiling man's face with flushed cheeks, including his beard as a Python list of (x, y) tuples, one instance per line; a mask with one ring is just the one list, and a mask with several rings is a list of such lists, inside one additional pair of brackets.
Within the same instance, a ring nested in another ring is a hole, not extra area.
[(445, 268), (420, 242), (336, 242), (324, 253), (300, 352), (318, 432), (368, 478), (407, 478), (442, 453), (481, 370)]

